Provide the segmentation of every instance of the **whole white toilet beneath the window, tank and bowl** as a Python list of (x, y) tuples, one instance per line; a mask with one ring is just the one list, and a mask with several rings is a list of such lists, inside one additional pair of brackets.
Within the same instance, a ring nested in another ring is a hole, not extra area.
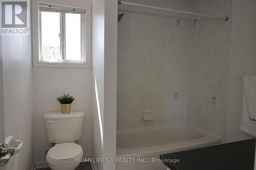
[(48, 141), (56, 143), (46, 156), (52, 170), (74, 170), (79, 165), (77, 160), (83, 156), (83, 151), (75, 141), (82, 135), (83, 116), (82, 111), (44, 115)]

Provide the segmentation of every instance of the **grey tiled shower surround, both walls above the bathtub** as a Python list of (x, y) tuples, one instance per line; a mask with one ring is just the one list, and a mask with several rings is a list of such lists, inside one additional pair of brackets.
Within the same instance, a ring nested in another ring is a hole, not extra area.
[[(231, 0), (130, 2), (232, 16)], [(177, 26), (175, 14), (119, 7), (117, 129), (188, 123), (225, 138), (231, 18)]]

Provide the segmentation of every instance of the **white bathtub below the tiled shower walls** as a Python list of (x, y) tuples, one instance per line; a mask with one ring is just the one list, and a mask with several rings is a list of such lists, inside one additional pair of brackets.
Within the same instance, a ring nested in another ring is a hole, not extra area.
[[(166, 169), (159, 155), (221, 143), (221, 138), (189, 125), (172, 125), (117, 132), (117, 158), (137, 158), (140, 162), (119, 162), (117, 170)], [(142, 159), (143, 161), (141, 162)]]

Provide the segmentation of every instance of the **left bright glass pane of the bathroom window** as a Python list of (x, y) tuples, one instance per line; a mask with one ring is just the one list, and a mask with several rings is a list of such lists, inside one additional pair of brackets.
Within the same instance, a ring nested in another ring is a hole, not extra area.
[(60, 13), (41, 12), (42, 60), (57, 61), (60, 56)]

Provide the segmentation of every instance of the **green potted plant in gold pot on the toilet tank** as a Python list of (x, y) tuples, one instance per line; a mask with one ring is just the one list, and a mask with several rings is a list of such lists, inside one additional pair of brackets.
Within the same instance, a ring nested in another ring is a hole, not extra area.
[(62, 94), (56, 99), (61, 104), (61, 112), (64, 114), (70, 113), (71, 103), (74, 102), (75, 98), (70, 94)]

